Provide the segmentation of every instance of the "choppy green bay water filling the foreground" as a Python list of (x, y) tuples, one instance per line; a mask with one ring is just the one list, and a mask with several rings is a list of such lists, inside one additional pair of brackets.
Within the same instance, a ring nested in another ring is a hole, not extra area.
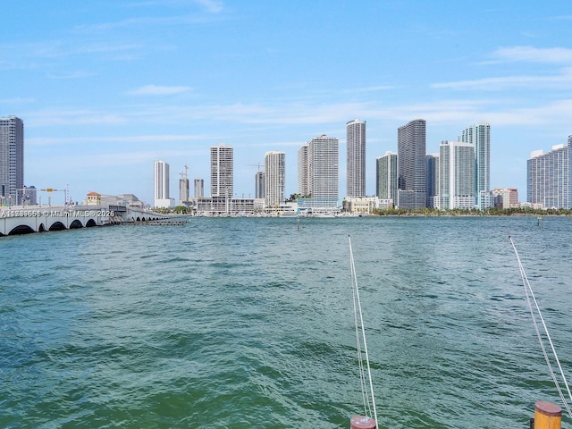
[[(572, 219), (193, 218), (0, 238), (0, 427), (527, 428), (572, 371)], [(569, 425), (568, 416), (563, 417)]]

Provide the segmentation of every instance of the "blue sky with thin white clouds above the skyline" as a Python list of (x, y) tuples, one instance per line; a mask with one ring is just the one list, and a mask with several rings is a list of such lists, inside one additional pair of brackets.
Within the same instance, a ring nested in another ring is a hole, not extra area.
[(25, 184), (76, 201), (152, 204), (156, 160), (171, 197), (185, 164), (209, 195), (220, 143), (238, 197), (270, 150), (286, 152), (290, 195), (298, 148), (322, 134), (340, 139), (342, 198), (356, 118), (369, 195), (375, 158), (422, 118), (428, 153), (490, 122), (491, 185), (525, 201), (530, 152), (572, 134), (568, 0), (29, 0), (4, 8), (0, 35), (0, 116), (24, 121)]

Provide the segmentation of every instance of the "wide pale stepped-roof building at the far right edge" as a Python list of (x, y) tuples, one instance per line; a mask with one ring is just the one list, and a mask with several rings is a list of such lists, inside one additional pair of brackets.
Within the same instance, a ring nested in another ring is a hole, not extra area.
[(572, 208), (570, 145), (556, 145), (544, 154), (536, 150), (526, 163), (526, 201), (546, 208)]

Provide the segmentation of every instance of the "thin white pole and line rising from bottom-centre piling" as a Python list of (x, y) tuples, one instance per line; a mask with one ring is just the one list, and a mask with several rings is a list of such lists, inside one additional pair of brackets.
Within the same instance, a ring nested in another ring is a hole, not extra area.
[[(374, 420), (377, 423), (377, 411), (375, 409), (375, 398), (374, 398), (374, 384), (372, 383), (372, 373), (369, 366), (369, 356), (367, 354), (367, 343), (366, 343), (366, 329), (364, 327), (364, 318), (361, 311), (361, 301), (359, 299), (359, 290), (357, 288), (357, 275), (356, 275), (356, 265), (354, 264), (354, 253), (351, 248), (351, 238), (348, 236), (349, 240), (349, 262), (351, 265), (351, 289), (354, 301), (354, 320), (356, 324), (356, 342), (357, 342), (357, 360), (359, 362), (359, 379), (361, 383), (361, 392), (364, 400), (364, 411), (366, 416), (372, 416), (372, 408), (374, 412)], [(357, 315), (359, 315), (359, 322), (357, 320)], [(359, 328), (361, 326), (361, 337), (364, 341), (364, 352), (362, 353), (361, 341), (359, 335)], [(371, 401), (369, 400), (369, 394), (366, 388), (366, 371), (363, 364), (363, 354), (366, 356), (366, 366), (367, 366), (367, 376), (369, 378), (369, 389), (371, 391)], [(371, 403), (371, 408), (370, 408)]]

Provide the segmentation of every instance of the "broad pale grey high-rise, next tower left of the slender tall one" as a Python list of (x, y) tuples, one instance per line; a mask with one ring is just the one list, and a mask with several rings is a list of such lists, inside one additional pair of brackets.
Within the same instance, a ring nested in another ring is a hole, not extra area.
[(322, 207), (338, 206), (338, 139), (322, 135), (307, 143), (308, 188)]

